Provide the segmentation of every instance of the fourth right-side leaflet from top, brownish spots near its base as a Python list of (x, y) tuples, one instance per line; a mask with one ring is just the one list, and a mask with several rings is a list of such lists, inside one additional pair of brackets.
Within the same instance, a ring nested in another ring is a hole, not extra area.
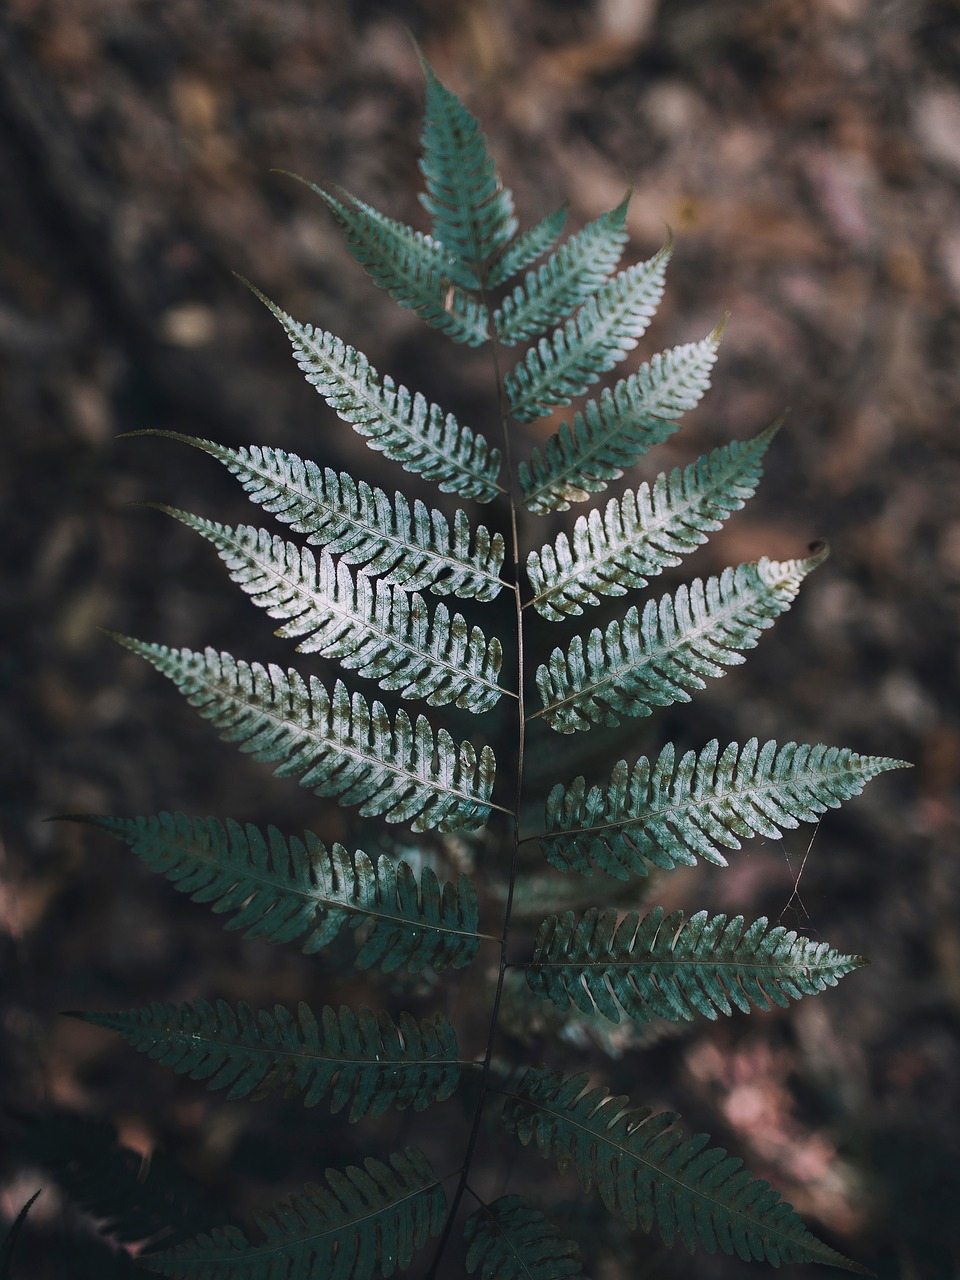
[(686, 343), (654, 356), (649, 364), (604, 389), (599, 401), (588, 401), (552, 435), (543, 452), (517, 468), (529, 511), (567, 511), (600, 493), (611, 480), (680, 428), (677, 419), (703, 399), (723, 324), (703, 342)]

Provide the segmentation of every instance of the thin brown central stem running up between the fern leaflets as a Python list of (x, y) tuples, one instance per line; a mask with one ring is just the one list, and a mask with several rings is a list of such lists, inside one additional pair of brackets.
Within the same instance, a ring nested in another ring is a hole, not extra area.
[[(486, 306), (486, 293), (485, 293), (485, 279), (484, 275), (480, 276), (480, 298), (484, 306)], [(488, 307), (489, 314), (489, 307)], [(511, 549), (513, 556), (513, 602), (516, 611), (517, 622), (517, 773), (516, 773), (516, 800), (515, 808), (511, 813), (513, 819), (513, 841), (509, 856), (509, 879), (507, 884), (507, 900), (503, 908), (503, 931), (500, 933), (500, 963), (497, 973), (497, 989), (493, 997), (493, 1007), (490, 1010), (490, 1025), (486, 1033), (486, 1050), (484, 1052), (483, 1060), (483, 1075), (480, 1078), (480, 1096), (476, 1100), (476, 1111), (474, 1112), (474, 1123), (470, 1129), (470, 1138), (467, 1139), (467, 1149), (463, 1156), (463, 1165), (461, 1167), (460, 1181), (457, 1183), (457, 1189), (453, 1193), (453, 1203), (451, 1204), (447, 1221), (444, 1222), (443, 1233), (436, 1244), (436, 1253), (434, 1256), (433, 1265), (428, 1271), (428, 1280), (435, 1280), (436, 1271), (443, 1258), (447, 1243), (451, 1238), (451, 1231), (453, 1230), (453, 1222), (457, 1217), (457, 1210), (460, 1208), (460, 1202), (463, 1199), (463, 1192), (467, 1189), (467, 1176), (470, 1174), (470, 1166), (474, 1160), (474, 1151), (476, 1149), (476, 1142), (480, 1137), (480, 1121), (484, 1112), (484, 1102), (486, 1101), (486, 1094), (490, 1089), (490, 1061), (493, 1060), (493, 1043), (497, 1036), (497, 1029), (499, 1027), (500, 1019), (500, 1002), (503, 1000), (503, 983), (507, 975), (507, 938), (509, 936), (511, 916), (513, 914), (513, 893), (517, 883), (517, 865), (520, 861), (520, 797), (524, 794), (524, 745), (526, 736), (526, 707), (524, 703), (524, 602), (521, 599), (520, 588), (520, 527), (517, 521), (517, 500), (515, 497), (515, 480), (513, 480), (513, 466), (511, 458), (509, 447), (509, 424), (507, 416), (509, 412), (509, 402), (507, 399), (507, 393), (503, 385), (503, 371), (500, 367), (499, 358), (499, 343), (497, 339), (497, 332), (493, 328), (493, 320), (490, 321), (490, 353), (493, 361), (494, 379), (497, 385), (497, 403), (500, 413), (500, 430), (503, 434), (503, 467), (508, 479), (509, 490), (507, 499), (509, 502), (509, 529), (511, 529)], [(497, 808), (493, 805), (492, 808)], [(503, 812), (503, 810), (500, 810)], [(471, 1194), (475, 1194), (471, 1192)], [(477, 1197), (479, 1198), (479, 1197)], [(483, 1201), (481, 1201), (483, 1203)]]

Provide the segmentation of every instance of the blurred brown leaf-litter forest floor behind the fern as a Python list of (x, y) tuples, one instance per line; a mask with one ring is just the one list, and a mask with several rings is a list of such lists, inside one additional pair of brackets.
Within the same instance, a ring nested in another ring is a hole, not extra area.
[[(197, 996), (356, 1001), (370, 988), (224, 933), (124, 847), (45, 819), (183, 809), (321, 833), (340, 820), (221, 746), (97, 628), (289, 660), (210, 548), (131, 506), (255, 518), (236, 484), (180, 444), (122, 433), (275, 444), (429, 492), (302, 383), (233, 271), (494, 433), (484, 355), (380, 296), (320, 202), (271, 172), (337, 182), (425, 227), (411, 33), (480, 116), (522, 224), (568, 200), (576, 230), (632, 184), (631, 260), (672, 229), (667, 298), (627, 369), (730, 312), (714, 389), (658, 468), (790, 407), (756, 499), (685, 572), (831, 543), (745, 668), (612, 748), (756, 735), (915, 765), (817, 829), (754, 842), (723, 874), (664, 882), (671, 905), (765, 913), (870, 966), (786, 1015), (626, 1053), (605, 1079), (708, 1129), (884, 1280), (960, 1275), (960, 8), (947, 0), (6, 0), (3, 1096), (20, 1112), (109, 1121), (239, 1213), (380, 1140), (383, 1126), (305, 1120), (296, 1102), (224, 1103), (60, 1018)], [(521, 456), (556, 425), (535, 424)], [(545, 773), (564, 769), (545, 759)], [(598, 1068), (595, 1053), (568, 1059)], [(456, 1124), (451, 1108), (433, 1124)], [(383, 1140), (416, 1132), (401, 1117)], [(3, 1217), (45, 1188), (14, 1276), (87, 1274), (84, 1224), (12, 1120), (4, 1133)], [(538, 1156), (498, 1160), (483, 1174), (492, 1194), (509, 1166), (512, 1189), (556, 1180), (554, 1198), (575, 1198)], [(572, 1233), (577, 1211), (563, 1212)], [(595, 1225), (580, 1225), (593, 1239)], [(90, 1274), (108, 1274), (91, 1257)], [(746, 1274), (662, 1257), (626, 1233), (591, 1267), (608, 1280)]]

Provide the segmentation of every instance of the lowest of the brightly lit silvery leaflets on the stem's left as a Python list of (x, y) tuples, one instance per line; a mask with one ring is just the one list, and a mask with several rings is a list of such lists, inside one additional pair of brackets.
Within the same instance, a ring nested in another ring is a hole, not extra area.
[(131, 636), (118, 644), (172, 680), (204, 719), (280, 777), (302, 774), (315, 795), (360, 805), (365, 817), (412, 822), (415, 831), (481, 827), (489, 815), (495, 762), (489, 746), (434, 733), (404, 710), (390, 724), (381, 703), (370, 707), (338, 680), (333, 698), (316, 676), (247, 663), (229, 653), (169, 649)]

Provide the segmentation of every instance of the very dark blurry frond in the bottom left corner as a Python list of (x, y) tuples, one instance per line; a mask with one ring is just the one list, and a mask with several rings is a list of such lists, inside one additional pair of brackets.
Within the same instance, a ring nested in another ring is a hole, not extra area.
[(141, 1257), (232, 1224), (168, 1156), (154, 1151), (145, 1157), (122, 1146), (111, 1125), (69, 1111), (26, 1117), (23, 1124), (29, 1162), (47, 1170), (104, 1234), (124, 1244), (137, 1242)]

